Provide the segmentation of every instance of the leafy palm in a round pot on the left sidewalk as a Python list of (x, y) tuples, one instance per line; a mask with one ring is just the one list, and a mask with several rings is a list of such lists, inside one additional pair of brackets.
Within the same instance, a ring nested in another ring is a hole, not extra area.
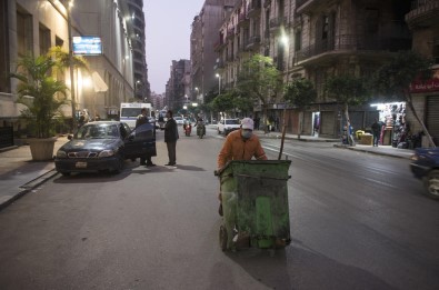
[(62, 118), (61, 107), (67, 104), (66, 83), (52, 76), (56, 67), (50, 54), (27, 56), (18, 60), (17, 72), (11, 74), (19, 80), (17, 102), (26, 106), (21, 117), (34, 137), (28, 139), (34, 161), (53, 158), (54, 129)]

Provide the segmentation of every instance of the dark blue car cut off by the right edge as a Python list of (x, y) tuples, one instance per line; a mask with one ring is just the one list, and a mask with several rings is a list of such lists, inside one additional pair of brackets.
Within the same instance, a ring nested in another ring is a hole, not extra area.
[(426, 194), (439, 200), (439, 148), (417, 148), (411, 160), (411, 172), (422, 180)]

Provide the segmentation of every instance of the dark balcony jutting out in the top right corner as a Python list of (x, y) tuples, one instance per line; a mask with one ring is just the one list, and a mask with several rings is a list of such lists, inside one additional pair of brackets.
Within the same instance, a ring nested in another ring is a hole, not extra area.
[(410, 29), (431, 27), (439, 23), (439, 0), (417, 0), (411, 2), (411, 11), (406, 14)]

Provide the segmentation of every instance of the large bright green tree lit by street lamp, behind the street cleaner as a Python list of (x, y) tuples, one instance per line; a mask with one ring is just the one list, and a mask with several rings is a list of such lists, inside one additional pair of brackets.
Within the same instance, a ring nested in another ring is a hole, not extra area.
[[(242, 63), (238, 72), (237, 89), (242, 98), (261, 103), (263, 120), (266, 120), (269, 101), (275, 100), (282, 90), (281, 73), (271, 58), (255, 54)], [(265, 121), (265, 130), (267, 130), (266, 123)]]

